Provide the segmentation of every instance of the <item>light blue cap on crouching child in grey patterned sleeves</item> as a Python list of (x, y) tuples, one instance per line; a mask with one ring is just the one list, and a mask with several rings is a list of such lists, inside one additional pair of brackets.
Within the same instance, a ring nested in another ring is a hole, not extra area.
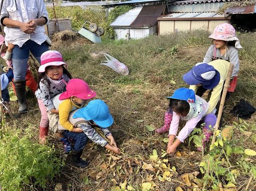
[(114, 119), (110, 115), (109, 107), (100, 99), (89, 101), (86, 107), (77, 110), (73, 118), (82, 117), (87, 121), (93, 120), (98, 126), (106, 128), (113, 124)]

